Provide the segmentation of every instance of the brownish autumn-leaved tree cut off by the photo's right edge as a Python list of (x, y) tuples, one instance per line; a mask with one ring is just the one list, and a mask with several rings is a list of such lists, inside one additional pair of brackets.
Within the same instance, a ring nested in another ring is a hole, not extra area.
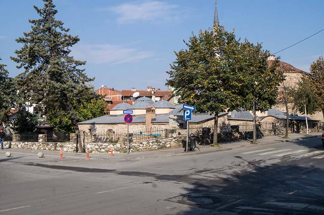
[[(324, 56), (320, 56), (310, 65), (310, 79), (313, 86), (316, 86), (315, 93), (318, 98), (324, 98)], [(318, 105), (324, 117), (324, 99), (320, 99)]]

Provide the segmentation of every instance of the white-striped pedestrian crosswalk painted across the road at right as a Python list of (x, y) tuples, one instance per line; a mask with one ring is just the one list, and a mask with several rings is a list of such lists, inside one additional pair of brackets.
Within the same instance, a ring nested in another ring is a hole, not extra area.
[[(282, 153), (284, 152), (284, 153)], [(322, 153), (322, 154), (321, 154)], [(324, 158), (324, 150), (293, 150), (293, 149), (276, 149), (276, 148), (268, 148), (268, 149), (259, 149), (249, 152), (243, 152), (241, 154), (257, 154), (257, 155), (271, 155), (275, 157), (290, 157), (290, 158), (315, 158), (315, 159), (321, 159)]]

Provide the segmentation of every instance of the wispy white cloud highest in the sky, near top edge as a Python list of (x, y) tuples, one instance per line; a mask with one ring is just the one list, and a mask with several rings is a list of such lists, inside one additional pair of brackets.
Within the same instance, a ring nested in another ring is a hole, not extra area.
[(176, 10), (178, 7), (162, 1), (146, 1), (140, 4), (126, 3), (109, 9), (118, 14), (118, 23), (129, 24), (136, 21), (178, 19), (179, 11)]

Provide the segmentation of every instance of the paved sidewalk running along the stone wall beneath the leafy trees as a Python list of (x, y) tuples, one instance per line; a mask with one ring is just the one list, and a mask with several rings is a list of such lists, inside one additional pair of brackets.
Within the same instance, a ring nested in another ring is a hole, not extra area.
[(238, 149), (242, 147), (255, 147), (258, 145), (266, 145), (266, 144), (273, 144), (273, 143), (280, 143), (280, 142), (290, 142), (290, 141), (297, 141), (303, 140), (308, 138), (315, 138), (321, 137), (321, 132), (310, 133), (309, 135), (306, 134), (289, 134), (289, 138), (283, 139), (282, 136), (268, 136), (259, 138), (258, 144), (252, 144), (249, 140), (242, 140), (242, 141), (235, 141), (235, 142), (223, 142), (220, 143), (220, 147), (214, 146), (200, 146), (199, 151), (195, 152), (184, 152), (183, 148), (171, 148), (171, 149), (162, 149), (157, 151), (148, 151), (148, 152), (134, 152), (130, 154), (118, 153), (115, 154), (116, 157), (122, 158), (127, 157), (130, 159), (145, 159), (145, 158), (154, 158), (154, 157), (168, 157), (168, 156), (179, 156), (179, 155), (192, 155), (192, 154), (205, 154), (205, 153), (214, 153), (220, 151), (227, 151)]

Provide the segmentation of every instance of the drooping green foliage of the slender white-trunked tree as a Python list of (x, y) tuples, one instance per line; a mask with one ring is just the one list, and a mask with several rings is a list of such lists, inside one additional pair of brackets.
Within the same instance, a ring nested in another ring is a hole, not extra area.
[(304, 77), (297, 84), (294, 96), (294, 109), (302, 114), (314, 114), (319, 107), (320, 98), (316, 95), (316, 88), (308, 77)]

